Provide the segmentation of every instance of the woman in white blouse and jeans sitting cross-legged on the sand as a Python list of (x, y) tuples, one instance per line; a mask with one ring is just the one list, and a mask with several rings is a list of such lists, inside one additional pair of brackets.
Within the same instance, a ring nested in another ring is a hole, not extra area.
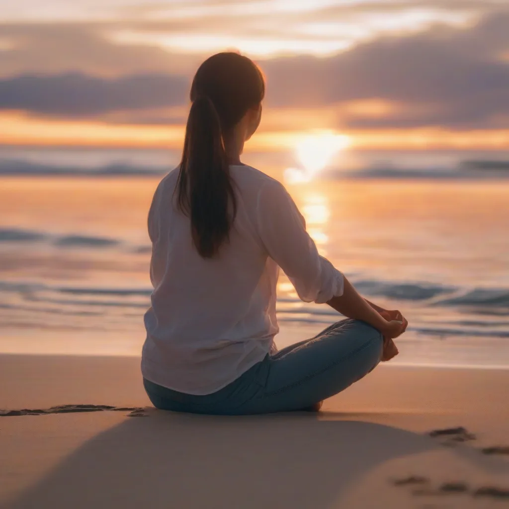
[[(316, 410), (398, 353), (391, 338), (406, 320), (364, 300), (318, 254), (284, 186), (240, 162), (264, 93), (258, 67), (237, 53), (211, 56), (194, 76), (182, 161), (148, 218), (154, 292), (142, 373), (157, 408)], [(277, 352), (279, 267), (303, 301), (349, 318)]]

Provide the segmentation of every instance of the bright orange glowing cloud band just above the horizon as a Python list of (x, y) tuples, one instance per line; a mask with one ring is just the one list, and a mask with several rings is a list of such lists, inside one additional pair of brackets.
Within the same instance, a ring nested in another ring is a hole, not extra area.
[[(300, 113), (298, 114), (300, 115)], [(270, 119), (269, 119), (270, 120)], [(292, 151), (302, 135), (312, 131), (304, 122), (295, 129), (262, 126), (246, 145), (246, 152)], [(319, 124), (319, 122), (317, 122)], [(305, 126), (305, 127), (303, 127)], [(320, 124), (323, 127), (323, 124)], [(179, 149), (184, 125), (107, 124), (100, 121), (46, 120), (20, 112), (0, 115), (2, 145), (74, 145), (154, 147)], [(509, 129), (454, 131), (445, 128), (351, 130), (347, 134), (354, 149), (498, 149), (509, 147)]]

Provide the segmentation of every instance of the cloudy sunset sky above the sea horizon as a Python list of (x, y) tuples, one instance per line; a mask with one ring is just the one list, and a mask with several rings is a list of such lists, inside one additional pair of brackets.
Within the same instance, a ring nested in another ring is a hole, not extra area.
[(509, 149), (509, 0), (0, 0), (0, 144), (178, 147), (229, 49), (267, 79), (257, 150)]

